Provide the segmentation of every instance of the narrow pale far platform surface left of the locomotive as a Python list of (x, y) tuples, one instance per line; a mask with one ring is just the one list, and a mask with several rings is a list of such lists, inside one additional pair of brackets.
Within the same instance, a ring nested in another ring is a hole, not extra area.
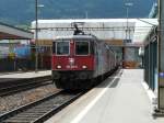
[(51, 70), (45, 70), (45, 71), (30, 71), (30, 72), (13, 72), (13, 74), (7, 74), (7, 75), (0, 75), (1, 78), (35, 78), (35, 77), (44, 77), (44, 76), (50, 76)]

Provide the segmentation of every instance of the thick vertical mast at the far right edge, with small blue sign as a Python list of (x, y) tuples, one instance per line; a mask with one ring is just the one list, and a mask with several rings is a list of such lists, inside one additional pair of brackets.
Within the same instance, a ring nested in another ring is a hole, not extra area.
[(157, 109), (164, 111), (164, 0), (159, 0), (159, 103)]

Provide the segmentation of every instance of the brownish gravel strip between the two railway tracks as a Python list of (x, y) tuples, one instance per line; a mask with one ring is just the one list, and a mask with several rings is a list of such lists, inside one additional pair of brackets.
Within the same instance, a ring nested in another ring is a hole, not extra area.
[(27, 91), (17, 92), (12, 96), (0, 97), (0, 114), (16, 109), (21, 105), (34, 102), (57, 91), (59, 90), (56, 89), (51, 83)]

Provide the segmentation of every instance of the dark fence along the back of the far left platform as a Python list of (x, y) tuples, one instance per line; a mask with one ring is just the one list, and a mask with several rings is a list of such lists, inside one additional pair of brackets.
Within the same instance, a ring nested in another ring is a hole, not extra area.
[[(38, 70), (50, 70), (50, 56), (38, 55)], [(0, 72), (3, 71), (35, 70), (35, 57), (33, 58), (0, 58)]]

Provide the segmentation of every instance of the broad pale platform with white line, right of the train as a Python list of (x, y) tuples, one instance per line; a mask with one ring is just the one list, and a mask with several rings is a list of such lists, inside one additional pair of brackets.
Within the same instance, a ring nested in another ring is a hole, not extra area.
[(121, 69), (45, 123), (164, 123), (142, 82), (142, 69)]

